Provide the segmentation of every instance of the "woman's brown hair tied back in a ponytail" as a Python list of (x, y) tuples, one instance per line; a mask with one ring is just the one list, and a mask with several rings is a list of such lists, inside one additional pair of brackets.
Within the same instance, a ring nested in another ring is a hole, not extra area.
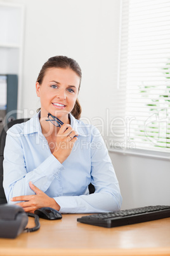
[[(42, 66), (41, 71), (39, 72), (39, 75), (37, 77), (37, 82), (39, 82), (40, 85), (42, 83), (42, 80), (44, 78), (44, 75), (45, 75), (47, 69), (49, 69), (49, 68), (64, 68), (64, 69), (70, 68), (70, 69), (72, 69), (72, 71), (74, 71), (77, 74), (77, 76), (79, 76), (79, 78), (80, 78), (80, 84), (79, 84), (79, 89), (80, 89), (82, 73), (81, 73), (81, 68), (80, 68), (79, 64), (74, 59), (68, 58), (66, 56), (60, 56), (60, 55), (49, 58)], [(40, 108), (37, 111), (39, 111), (39, 110), (40, 110)], [(71, 111), (71, 113), (76, 119), (81, 118), (81, 105), (80, 105), (78, 99), (76, 99), (74, 108)]]

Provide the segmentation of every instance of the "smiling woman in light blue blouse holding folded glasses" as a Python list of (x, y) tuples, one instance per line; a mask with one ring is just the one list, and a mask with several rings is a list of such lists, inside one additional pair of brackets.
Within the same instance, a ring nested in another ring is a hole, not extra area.
[[(8, 203), (32, 213), (41, 207), (61, 213), (121, 208), (119, 183), (103, 139), (95, 127), (79, 120), (80, 85), (75, 60), (55, 56), (42, 66), (36, 82), (41, 110), (13, 125), (6, 136), (3, 186)], [(89, 183), (94, 194), (89, 194)]]

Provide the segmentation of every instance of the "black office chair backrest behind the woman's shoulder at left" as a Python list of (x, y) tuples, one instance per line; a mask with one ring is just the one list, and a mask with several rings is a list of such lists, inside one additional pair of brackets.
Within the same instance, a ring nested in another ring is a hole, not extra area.
[(6, 197), (4, 195), (4, 188), (3, 188), (3, 160), (4, 160), (4, 146), (6, 141), (6, 132), (14, 124), (21, 124), (23, 122), (26, 122), (27, 120), (29, 120), (29, 118), (13, 120), (7, 125), (5, 125), (3, 128), (3, 131), (1, 132), (1, 136), (0, 136), (0, 204), (7, 203)]

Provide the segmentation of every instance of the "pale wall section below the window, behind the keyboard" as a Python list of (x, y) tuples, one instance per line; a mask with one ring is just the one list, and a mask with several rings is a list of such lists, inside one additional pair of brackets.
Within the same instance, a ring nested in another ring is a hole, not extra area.
[(169, 160), (110, 153), (123, 198), (122, 209), (170, 205)]

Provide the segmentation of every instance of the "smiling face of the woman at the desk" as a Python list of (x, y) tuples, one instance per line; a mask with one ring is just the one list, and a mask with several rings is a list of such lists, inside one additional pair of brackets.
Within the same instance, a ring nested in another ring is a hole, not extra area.
[(47, 69), (41, 85), (36, 83), (37, 96), (41, 101), (41, 117), (48, 113), (68, 122), (68, 114), (74, 108), (79, 92), (80, 78), (67, 68)]

